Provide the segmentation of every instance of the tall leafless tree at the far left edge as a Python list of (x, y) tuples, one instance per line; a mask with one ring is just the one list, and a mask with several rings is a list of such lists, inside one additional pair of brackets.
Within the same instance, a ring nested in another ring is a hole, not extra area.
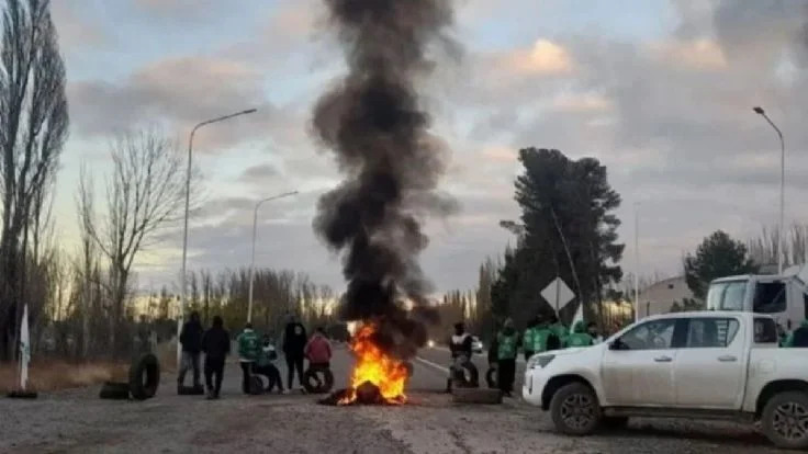
[[(0, 49), (0, 360), (14, 354), (27, 241), (68, 133), (65, 66), (47, 0), (7, 0)], [(42, 198), (41, 198), (42, 200)]]

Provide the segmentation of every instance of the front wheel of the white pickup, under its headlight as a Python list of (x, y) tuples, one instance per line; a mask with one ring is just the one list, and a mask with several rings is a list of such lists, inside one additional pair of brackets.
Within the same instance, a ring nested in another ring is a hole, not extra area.
[(550, 416), (559, 432), (576, 436), (594, 432), (603, 418), (597, 395), (581, 382), (570, 383), (556, 391), (550, 400)]

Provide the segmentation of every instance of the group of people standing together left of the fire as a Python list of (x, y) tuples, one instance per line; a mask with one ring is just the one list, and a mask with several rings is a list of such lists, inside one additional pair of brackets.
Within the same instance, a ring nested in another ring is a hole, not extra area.
[[(217, 399), (224, 379), (224, 366), (231, 353), (232, 338), (224, 329), (222, 317), (213, 317), (210, 329), (204, 330), (199, 313), (191, 313), (190, 319), (183, 325), (180, 332), (182, 355), (180, 370), (177, 376), (177, 386), (184, 386), (188, 371), (193, 372), (193, 387), (202, 388), (200, 383), (200, 357), (204, 354), (205, 388), (209, 399)], [(242, 391), (249, 394), (252, 375), (263, 375), (269, 385), (265, 389), (271, 393), (289, 393), (294, 383), (294, 375), (303, 387), (303, 363), (308, 359), (310, 367), (328, 368), (330, 365), (332, 347), (325, 329), (317, 328), (308, 338), (306, 329), (294, 316), (290, 316), (283, 331), (283, 356), (287, 362), (287, 388), (283, 388), (280, 371), (274, 365), (278, 359), (272, 337), (259, 336), (247, 324), (236, 338), (238, 345), (238, 363), (242, 368)]]

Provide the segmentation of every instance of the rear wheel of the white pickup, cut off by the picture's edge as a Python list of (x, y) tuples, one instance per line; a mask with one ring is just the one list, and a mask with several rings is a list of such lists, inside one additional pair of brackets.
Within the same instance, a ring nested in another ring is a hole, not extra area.
[(805, 450), (808, 447), (808, 394), (775, 395), (763, 408), (761, 422), (763, 433), (778, 447)]

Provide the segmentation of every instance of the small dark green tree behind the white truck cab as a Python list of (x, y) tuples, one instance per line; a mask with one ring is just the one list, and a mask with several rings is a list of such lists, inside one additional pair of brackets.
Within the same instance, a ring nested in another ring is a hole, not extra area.
[(684, 260), (685, 280), (693, 295), (704, 300), (710, 281), (736, 274), (758, 271), (749, 257), (747, 246), (732, 239), (727, 232), (718, 230), (705, 238)]

